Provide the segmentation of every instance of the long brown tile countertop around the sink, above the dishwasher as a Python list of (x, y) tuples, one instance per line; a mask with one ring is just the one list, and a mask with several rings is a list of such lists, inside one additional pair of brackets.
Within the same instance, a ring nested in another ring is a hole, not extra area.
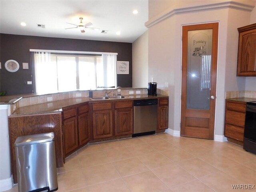
[(70, 98), (70, 99), (64, 99), (64, 100), (58, 100), (53, 102), (47, 102), (47, 103), (41, 103), (41, 104), (35, 104), (30, 106), (24, 106), (18, 108), (16, 111), (14, 111), (11, 116), (13, 115), (29, 115), (29, 114), (42, 114), (42, 113), (50, 113), (50, 112), (61, 112), (62, 108), (67, 106), (72, 106), (76, 104), (81, 104), (84, 102), (105, 102), (105, 101), (113, 101), (113, 100), (137, 100), (137, 99), (148, 99), (148, 98), (168, 98), (168, 96), (164, 95), (158, 95), (158, 96), (151, 96), (151, 95), (128, 95), (127, 98), (123, 99), (108, 99), (108, 100), (92, 100), (88, 97), (84, 98)]

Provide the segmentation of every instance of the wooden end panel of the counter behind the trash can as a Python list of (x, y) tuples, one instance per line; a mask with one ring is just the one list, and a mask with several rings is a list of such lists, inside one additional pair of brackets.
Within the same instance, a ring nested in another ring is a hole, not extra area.
[(11, 166), (14, 183), (18, 182), (14, 142), (19, 136), (54, 132), (56, 165), (57, 167), (63, 166), (61, 113), (10, 116), (8, 121)]

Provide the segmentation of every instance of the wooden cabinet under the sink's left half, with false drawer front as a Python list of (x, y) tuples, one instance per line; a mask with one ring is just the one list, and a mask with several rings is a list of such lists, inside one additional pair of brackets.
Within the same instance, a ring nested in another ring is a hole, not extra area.
[(112, 102), (92, 103), (93, 139), (113, 136)]

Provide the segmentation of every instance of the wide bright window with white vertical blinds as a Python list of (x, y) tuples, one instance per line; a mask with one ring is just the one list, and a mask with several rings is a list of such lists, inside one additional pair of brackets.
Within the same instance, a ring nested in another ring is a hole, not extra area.
[(116, 87), (116, 54), (32, 52), (38, 94)]

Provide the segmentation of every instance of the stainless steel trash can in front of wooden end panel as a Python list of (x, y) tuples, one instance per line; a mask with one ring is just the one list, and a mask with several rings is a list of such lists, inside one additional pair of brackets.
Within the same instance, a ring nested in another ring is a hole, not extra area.
[(58, 190), (54, 133), (21, 136), (14, 145), (19, 192)]

